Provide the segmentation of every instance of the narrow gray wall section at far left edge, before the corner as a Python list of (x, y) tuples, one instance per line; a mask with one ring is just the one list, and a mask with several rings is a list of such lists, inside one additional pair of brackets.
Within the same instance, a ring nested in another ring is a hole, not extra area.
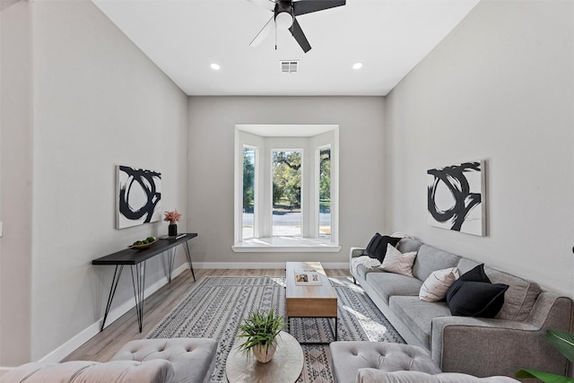
[[(31, 353), (31, 17), (28, 2), (0, 13), (0, 366)], [(13, 350), (14, 345), (16, 350)]]

